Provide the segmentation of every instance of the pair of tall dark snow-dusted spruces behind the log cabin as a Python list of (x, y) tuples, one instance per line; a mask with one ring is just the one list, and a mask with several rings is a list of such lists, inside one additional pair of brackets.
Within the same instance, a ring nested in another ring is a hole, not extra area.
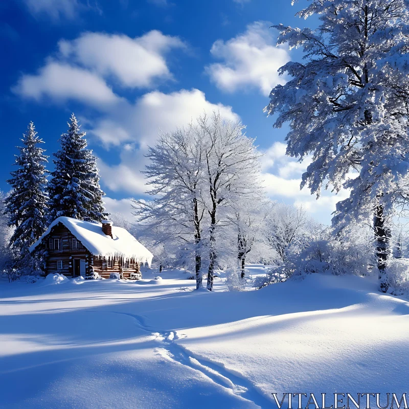
[(12, 278), (42, 271), (41, 255), (32, 257), (29, 247), (57, 217), (98, 221), (104, 218), (104, 192), (96, 158), (87, 149), (84, 137), (73, 113), (67, 132), (61, 135), (60, 149), (54, 153), (54, 171), (49, 172), (48, 156), (41, 147), (44, 142), (33, 122), (28, 125), (21, 146), (17, 147), (17, 169), (7, 180), (11, 191), (2, 200), (3, 237), (9, 236), (3, 248), (3, 264)]

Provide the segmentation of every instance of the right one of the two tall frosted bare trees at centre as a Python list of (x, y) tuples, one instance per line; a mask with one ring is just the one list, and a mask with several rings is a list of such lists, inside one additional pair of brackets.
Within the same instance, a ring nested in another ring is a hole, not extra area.
[[(217, 229), (228, 223), (220, 211), (227, 211), (231, 203), (258, 200), (261, 192), (259, 183), (260, 154), (254, 139), (246, 137), (240, 122), (225, 121), (220, 113), (211, 118), (198, 118), (195, 128), (198, 139), (204, 144), (203, 161), (205, 174), (201, 201), (210, 218), (209, 267), (207, 288), (213, 289), (214, 269), (217, 266)], [(236, 247), (237, 248), (237, 247)]]

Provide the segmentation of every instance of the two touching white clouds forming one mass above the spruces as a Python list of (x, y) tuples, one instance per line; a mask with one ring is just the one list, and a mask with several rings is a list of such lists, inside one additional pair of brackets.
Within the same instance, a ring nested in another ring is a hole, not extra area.
[(12, 89), (37, 101), (49, 97), (93, 106), (118, 104), (121, 98), (108, 79), (125, 87), (150, 87), (155, 80), (172, 77), (165, 56), (184, 47), (179, 38), (157, 30), (137, 38), (85, 33), (72, 41), (61, 40), (58, 54), (48, 58), (37, 74), (22, 75)]

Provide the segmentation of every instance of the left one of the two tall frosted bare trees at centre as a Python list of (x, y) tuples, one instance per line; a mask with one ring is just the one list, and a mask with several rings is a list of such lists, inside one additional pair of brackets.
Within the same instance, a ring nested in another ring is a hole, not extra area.
[[(151, 202), (134, 201), (135, 215), (145, 226), (143, 236), (153, 235), (154, 247), (179, 247), (194, 253), (196, 288), (202, 286), (201, 222), (205, 210), (200, 205), (200, 181), (203, 177), (203, 142), (194, 126), (162, 133), (149, 148), (150, 163), (144, 171), (150, 187)], [(165, 252), (167, 254), (173, 251)], [(161, 250), (163, 254), (164, 250)], [(190, 263), (188, 262), (188, 265)]]

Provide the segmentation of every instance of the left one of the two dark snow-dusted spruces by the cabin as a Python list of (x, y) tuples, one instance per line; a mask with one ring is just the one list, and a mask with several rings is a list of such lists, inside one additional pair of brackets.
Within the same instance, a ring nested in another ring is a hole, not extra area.
[[(47, 230), (47, 156), (39, 144), (44, 143), (37, 137), (34, 124), (30, 122), (27, 132), (21, 139), (14, 165), (17, 170), (11, 172), (7, 180), (12, 190), (5, 199), (5, 213), (9, 215), (8, 225), (14, 231), (10, 237), (10, 246), (19, 267), (31, 264), (30, 247)], [(22, 260), (26, 259), (27, 263)]]

